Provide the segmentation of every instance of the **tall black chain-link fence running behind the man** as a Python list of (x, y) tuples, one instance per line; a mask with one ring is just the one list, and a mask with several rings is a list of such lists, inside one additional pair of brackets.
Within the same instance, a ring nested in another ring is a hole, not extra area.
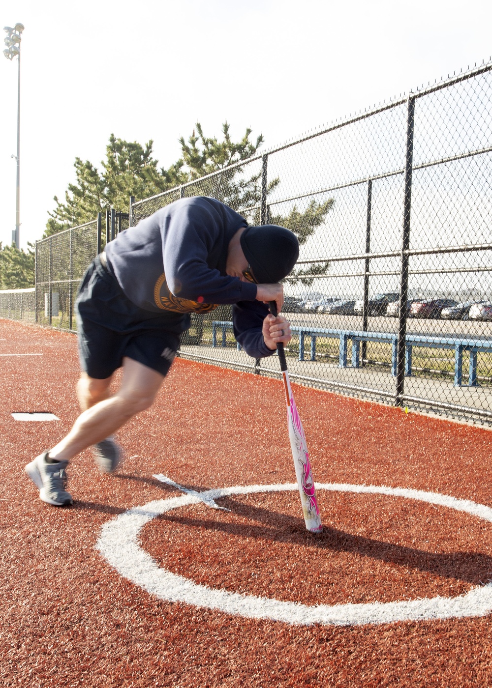
[[(37, 242), (36, 318), (74, 327), (105, 241), (180, 197), (294, 230), (287, 347), (300, 383), (492, 424), (492, 64)], [(1, 302), (1, 301), (0, 301)], [(238, 350), (232, 310), (192, 314), (181, 356), (279, 373)]]

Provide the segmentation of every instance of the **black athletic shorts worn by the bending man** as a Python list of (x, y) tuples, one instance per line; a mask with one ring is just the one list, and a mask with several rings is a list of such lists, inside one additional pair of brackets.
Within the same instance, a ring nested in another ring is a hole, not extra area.
[(187, 315), (154, 314), (132, 303), (99, 257), (85, 272), (75, 308), (81, 368), (100, 380), (123, 365), (123, 356), (167, 374), (189, 326)]

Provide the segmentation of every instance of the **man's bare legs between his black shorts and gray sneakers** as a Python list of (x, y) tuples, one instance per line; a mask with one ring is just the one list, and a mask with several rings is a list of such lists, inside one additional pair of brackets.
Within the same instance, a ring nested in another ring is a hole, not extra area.
[[(125, 357), (121, 387), (112, 396), (107, 396), (110, 379), (81, 377), (77, 392), (81, 407), (86, 408), (74, 422), (68, 435), (50, 449), (51, 459), (69, 460), (83, 449), (112, 435), (132, 416), (152, 405), (164, 376)], [(101, 400), (94, 403), (98, 395)]]

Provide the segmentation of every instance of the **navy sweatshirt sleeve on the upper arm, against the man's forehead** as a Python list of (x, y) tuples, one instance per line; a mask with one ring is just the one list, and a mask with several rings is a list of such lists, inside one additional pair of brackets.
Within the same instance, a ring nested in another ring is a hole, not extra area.
[(184, 206), (161, 228), (165, 233), (164, 272), (174, 296), (198, 303), (256, 299), (255, 284), (221, 275), (217, 268), (209, 266), (210, 256), (224, 241), (220, 222), (213, 208), (202, 206), (198, 212), (193, 206)]

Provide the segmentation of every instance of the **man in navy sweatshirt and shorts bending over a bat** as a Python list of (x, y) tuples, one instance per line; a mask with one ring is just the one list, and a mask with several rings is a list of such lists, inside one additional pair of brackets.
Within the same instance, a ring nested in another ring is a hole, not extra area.
[[(279, 283), (299, 255), (296, 235), (249, 227), (208, 197), (178, 200), (119, 234), (89, 266), (76, 299), (82, 413), (68, 435), (25, 466), (43, 502), (72, 504), (68, 462), (93, 447), (99, 469), (116, 470), (113, 433), (152, 405), (189, 327), (190, 312), (232, 303), (234, 334), (249, 356), (271, 356), (291, 339)], [(110, 395), (116, 369), (121, 386)]]

